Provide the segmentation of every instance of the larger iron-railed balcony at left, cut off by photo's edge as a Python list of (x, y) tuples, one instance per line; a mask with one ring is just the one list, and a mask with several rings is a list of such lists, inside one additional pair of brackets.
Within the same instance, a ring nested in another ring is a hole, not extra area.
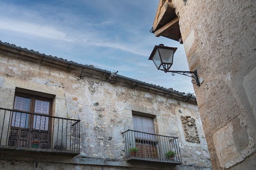
[(0, 150), (78, 155), (79, 122), (0, 108)]

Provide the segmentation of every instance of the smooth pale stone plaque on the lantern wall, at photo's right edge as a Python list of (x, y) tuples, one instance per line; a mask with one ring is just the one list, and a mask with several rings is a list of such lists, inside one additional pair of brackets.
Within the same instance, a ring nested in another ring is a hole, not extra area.
[(243, 78), (243, 86), (256, 119), (256, 67), (245, 75)]

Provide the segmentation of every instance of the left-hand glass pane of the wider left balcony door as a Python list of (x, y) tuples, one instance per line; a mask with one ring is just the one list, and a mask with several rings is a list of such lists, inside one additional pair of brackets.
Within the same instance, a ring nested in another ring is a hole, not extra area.
[[(25, 97), (15, 97), (14, 109), (29, 112), (30, 99)], [(13, 112), (11, 126), (27, 128), (29, 114)]]

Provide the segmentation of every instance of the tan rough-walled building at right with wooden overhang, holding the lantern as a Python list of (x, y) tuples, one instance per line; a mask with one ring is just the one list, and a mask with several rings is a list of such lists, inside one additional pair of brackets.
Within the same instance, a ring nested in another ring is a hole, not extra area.
[[(215, 170), (256, 167), (255, 0), (160, 0), (152, 33), (184, 44)], [(156, 44), (158, 45), (158, 44)]]

